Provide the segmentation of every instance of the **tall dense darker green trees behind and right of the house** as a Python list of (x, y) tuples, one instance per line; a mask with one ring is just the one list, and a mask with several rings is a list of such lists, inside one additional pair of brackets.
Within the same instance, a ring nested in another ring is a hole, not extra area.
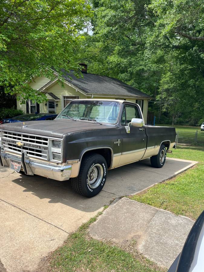
[(198, 123), (204, 112), (204, 2), (92, 3), (89, 71), (101, 71), (151, 94), (152, 101), (159, 102), (150, 103), (151, 108), (167, 118)]

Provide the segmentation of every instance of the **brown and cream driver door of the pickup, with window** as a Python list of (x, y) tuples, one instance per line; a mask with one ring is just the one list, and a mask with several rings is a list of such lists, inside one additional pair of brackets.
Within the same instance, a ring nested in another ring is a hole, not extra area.
[(119, 165), (140, 160), (146, 150), (147, 135), (144, 126), (138, 128), (130, 125), (130, 133), (125, 130), (125, 126), (131, 122), (132, 118), (141, 118), (140, 111), (136, 105), (127, 103), (124, 105), (120, 122), (122, 154)]

